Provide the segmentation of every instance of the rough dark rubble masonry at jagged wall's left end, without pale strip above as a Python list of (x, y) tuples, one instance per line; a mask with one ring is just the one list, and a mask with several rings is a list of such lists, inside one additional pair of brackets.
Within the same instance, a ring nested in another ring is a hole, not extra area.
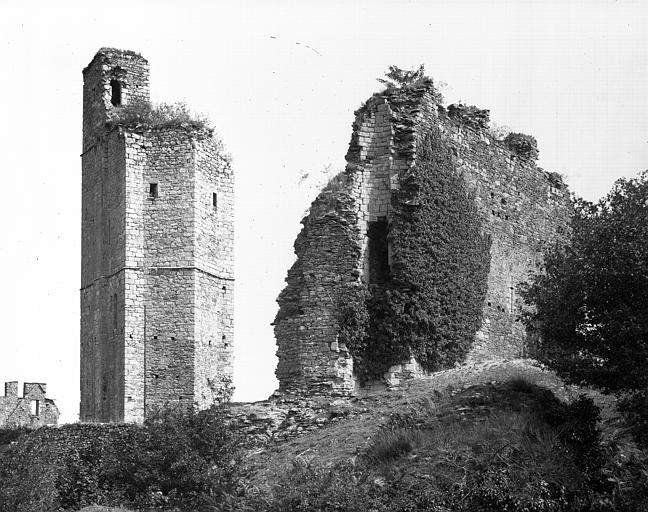
[(284, 391), (349, 393), (352, 360), (337, 341), (338, 290), (360, 271), (357, 212), (350, 197), (324, 192), (295, 242), (298, 259), (279, 296), (276, 375)]

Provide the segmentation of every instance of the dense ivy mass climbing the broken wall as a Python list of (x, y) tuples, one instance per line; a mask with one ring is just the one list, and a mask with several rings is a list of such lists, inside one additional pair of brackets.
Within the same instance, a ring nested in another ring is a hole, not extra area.
[(490, 238), (438, 132), (421, 141), (392, 206), (391, 278), (343, 297), (339, 313), (365, 379), (411, 356), (429, 371), (463, 361), (482, 321)]

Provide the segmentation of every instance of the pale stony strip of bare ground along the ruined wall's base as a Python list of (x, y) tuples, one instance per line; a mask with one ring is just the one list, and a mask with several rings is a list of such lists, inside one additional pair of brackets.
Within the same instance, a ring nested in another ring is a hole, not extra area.
[[(587, 394), (602, 408), (604, 436), (619, 435), (614, 397), (592, 389), (567, 386), (554, 373), (529, 359), (489, 360), (444, 370), (410, 381), (398, 389), (363, 398), (292, 401), (275, 397), (254, 404), (256, 420), (272, 418), (274, 431), (269, 442), (258, 443), (246, 458), (251, 479), (260, 487), (272, 486), (295, 461), (333, 464), (352, 459), (368, 446), (390, 414), (431, 406), (444, 395), (487, 383), (524, 378), (550, 389), (561, 400)], [(243, 406), (240, 406), (243, 407)], [(265, 411), (265, 415), (263, 414)]]

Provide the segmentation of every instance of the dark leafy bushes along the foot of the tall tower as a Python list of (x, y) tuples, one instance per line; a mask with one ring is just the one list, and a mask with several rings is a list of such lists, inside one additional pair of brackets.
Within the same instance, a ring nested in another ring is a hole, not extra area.
[(0, 509), (170, 509), (225, 499), (239, 485), (236, 442), (217, 407), (161, 410), (143, 426), (39, 429), (0, 455)]

